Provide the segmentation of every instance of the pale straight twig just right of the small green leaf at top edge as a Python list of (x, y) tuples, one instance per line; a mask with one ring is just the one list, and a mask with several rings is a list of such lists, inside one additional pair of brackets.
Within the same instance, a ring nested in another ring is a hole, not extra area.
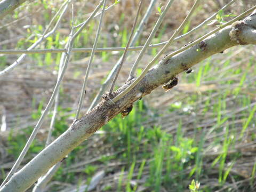
[(140, 51), (140, 53), (138, 55), (138, 58), (136, 59), (136, 61), (134, 62), (133, 66), (132, 66), (132, 69), (131, 69), (129, 77), (128, 77), (128, 81), (134, 77), (137, 66), (138, 66), (140, 60), (142, 59), (143, 54), (145, 54), (145, 52), (146, 52), (146, 50), (149, 46), (149, 43), (151, 42), (151, 40), (155, 36), (156, 31), (158, 30), (159, 26), (161, 25), (165, 15), (166, 15), (167, 11), (169, 10), (170, 6), (172, 5), (172, 3), (173, 3), (173, 0), (169, 0), (169, 2), (167, 3), (167, 5), (166, 5), (166, 7), (163, 11), (163, 13), (161, 13), (160, 17), (158, 18), (158, 20), (156, 22), (156, 25), (154, 26), (153, 30), (151, 31), (149, 37), (147, 38), (147, 41), (146, 41), (145, 45), (143, 46), (142, 50)]

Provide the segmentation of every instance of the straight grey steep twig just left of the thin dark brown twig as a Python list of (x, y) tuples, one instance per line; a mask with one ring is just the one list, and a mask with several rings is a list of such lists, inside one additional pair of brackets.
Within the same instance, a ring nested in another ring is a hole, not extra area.
[(83, 87), (82, 87), (82, 91), (81, 91), (81, 94), (80, 94), (80, 98), (79, 98), (79, 103), (78, 103), (75, 119), (78, 119), (81, 107), (83, 105), (83, 99), (84, 99), (84, 94), (85, 94), (85, 86), (87, 84), (87, 79), (88, 79), (88, 76), (89, 76), (89, 73), (90, 73), (90, 68), (91, 68), (91, 65), (92, 65), (92, 60), (93, 60), (93, 57), (94, 57), (95, 49), (96, 49), (97, 44), (98, 44), (98, 39), (99, 39), (99, 35), (100, 35), (100, 29), (101, 29), (101, 25), (102, 25), (102, 20), (103, 20), (104, 13), (105, 13), (106, 2), (107, 2), (107, 0), (104, 0), (103, 8), (102, 8), (101, 15), (100, 15), (99, 26), (98, 26), (97, 34), (96, 34), (96, 37), (95, 37), (95, 40), (94, 40), (94, 44), (93, 44), (93, 47), (92, 47), (91, 57), (90, 57), (90, 60), (89, 60), (89, 63), (88, 63), (87, 69), (86, 69), (86, 73), (85, 73), (85, 77), (84, 77), (84, 82), (83, 82)]

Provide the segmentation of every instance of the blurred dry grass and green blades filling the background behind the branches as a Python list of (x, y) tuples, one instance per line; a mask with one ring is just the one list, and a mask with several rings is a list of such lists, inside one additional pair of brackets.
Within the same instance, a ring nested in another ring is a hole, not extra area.
[[(157, 2), (137, 45), (145, 43), (158, 18), (160, 2), (164, 6), (167, 1)], [(227, 2), (202, 1), (183, 33)], [(62, 3), (31, 1), (7, 15), (0, 21), (0, 49), (27, 49), (43, 33)], [(109, 5), (113, 3), (114, 0), (108, 1)], [(145, 1), (140, 18), (148, 3)], [(74, 1), (75, 24), (83, 22), (97, 4), (98, 1)], [(138, 4), (138, 0), (122, 0), (106, 12), (98, 47), (126, 45)], [(191, 5), (193, 1), (174, 1), (152, 43), (166, 41)], [(237, 0), (225, 14), (237, 15), (252, 5), (253, 0)], [(92, 47), (98, 19), (79, 35), (74, 47)], [(71, 9), (57, 33), (38, 48), (63, 48), (70, 32), (70, 20)], [(169, 51), (214, 27), (205, 26), (189, 38), (173, 43)], [(148, 49), (138, 74), (158, 50)], [(126, 81), (137, 54), (130, 53), (116, 87)], [(255, 46), (247, 45), (213, 55), (195, 66), (193, 73), (180, 74), (179, 84), (171, 91), (159, 87), (134, 103), (129, 116), (118, 115), (69, 154), (47, 185), (47, 191), (78, 191), (79, 186), (89, 184), (99, 171), (105, 176), (93, 191), (255, 191), (255, 54)], [(25, 146), (50, 98), (60, 55), (30, 54), (20, 67), (0, 77), (0, 113), (6, 116), (7, 125), (7, 130), (0, 132), (0, 182)], [(122, 52), (96, 53), (83, 114), (121, 55)], [(74, 119), (89, 57), (90, 53), (74, 53), (71, 57), (61, 86), (54, 138), (67, 130)], [(0, 69), (17, 58), (18, 55), (0, 55)], [(22, 164), (44, 148), (51, 116)], [(193, 186), (198, 186), (195, 181), (200, 186), (193, 190)]]

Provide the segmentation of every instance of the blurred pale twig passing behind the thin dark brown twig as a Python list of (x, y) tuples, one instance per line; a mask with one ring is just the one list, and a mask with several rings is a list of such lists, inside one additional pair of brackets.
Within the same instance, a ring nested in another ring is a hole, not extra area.
[[(154, 5), (156, 3), (157, 0), (151, 0), (150, 4), (149, 4), (149, 7), (146, 11), (146, 14), (144, 15), (143, 19), (140, 21), (140, 25), (138, 27), (138, 29), (136, 30), (135, 32), (135, 35), (133, 36), (132, 38), (132, 42), (131, 42), (131, 45), (134, 45), (135, 42), (136, 42), (136, 39), (139, 38), (139, 36), (141, 35), (142, 31), (143, 31), (143, 28), (146, 26), (147, 22), (148, 22), (148, 18), (149, 18), (149, 15), (151, 13), (151, 11), (153, 11), (153, 8), (154, 8)], [(142, 49), (143, 46), (141, 46), (141, 49)], [(116, 71), (117, 71), (117, 68), (118, 66), (120, 65), (120, 62), (121, 62), (121, 59), (120, 58), (115, 66), (113, 67), (113, 69), (110, 71), (109, 75), (107, 76), (105, 82), (103, 82), (103, 84), (101, 85), (100, 87), (100, 90), (98, 92), (98, 94), (96, 95), (96, 97), (93, 99), (89, 109), (87, 111), (90, 111), (94, 106), (96, 106), (101, 98), (101, 95), (106, 91), (108, 85), (110, 84), (110, 81), (111, 79), (114, 77)]]

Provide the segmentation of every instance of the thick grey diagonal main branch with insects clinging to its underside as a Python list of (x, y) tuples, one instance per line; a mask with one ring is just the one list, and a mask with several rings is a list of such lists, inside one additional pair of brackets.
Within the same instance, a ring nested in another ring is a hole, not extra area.
[[(15, 173), (0, 191), (25, 191), (54, 164), (65, 158), (71, 150), (90, 137), (95, 131), (99, 130), (102, 125), (109, 122), (124, 110), (125, 107), (150, 94), (156, 87), (168, 82), (175, 75), (215, 53), (223, 52), (231, 46), (256, 44), (255, 26), (256, 12), (254, 11), (243, 21), (238, 21), (232, 26), (223, 28), (218, 33), (175, 55), (171, 59), (159, 61), (156, 66), (148, 71), (148, 74), (142, 81), (122, 99), (118, 100), (115, 104), (108, 98), (103, 99), (89, 113), (71, 124), (65, 133), (42, 150), (19, 172)], [(114, 96), (121, 93), (132, 81), (120, 87), (113, 93)]]

